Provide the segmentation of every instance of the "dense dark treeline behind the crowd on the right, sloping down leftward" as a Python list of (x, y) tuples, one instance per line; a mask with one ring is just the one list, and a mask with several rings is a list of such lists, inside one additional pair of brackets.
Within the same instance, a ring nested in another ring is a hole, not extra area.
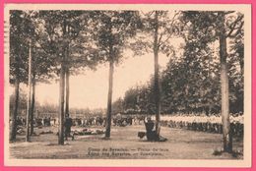
[[(231, 58), (243, 44), (230, 48), (228, 58), (229, 109), (230, 113), (243, 113), (243, 54)], [(190, 46), (187, 44), (186, 46)], [(193, 54), (194, 47), (187, 47), (183, 56), (170, 59), (165, 70), (160, 73), (161, 113), (205, 113), (206, 115), (221, 113), (221, 69), (220, 57), (214, 53), (213, 44), (198, 56)], [(123, 114), (154, 114), (154, 77), (145, 85), (129, 88), (123, 98), (113, 102), (113, 112)]]

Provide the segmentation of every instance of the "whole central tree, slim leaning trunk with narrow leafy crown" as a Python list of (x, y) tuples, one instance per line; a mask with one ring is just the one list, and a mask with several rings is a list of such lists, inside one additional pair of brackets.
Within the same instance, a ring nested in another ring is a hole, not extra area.
[(100, 11), (98, 13), (97, 46), (109, 63), (105, 139), (110, 138), (114, 64), (122, 58), (127, 40), (136, 33), (139, 22), (135, 11)]

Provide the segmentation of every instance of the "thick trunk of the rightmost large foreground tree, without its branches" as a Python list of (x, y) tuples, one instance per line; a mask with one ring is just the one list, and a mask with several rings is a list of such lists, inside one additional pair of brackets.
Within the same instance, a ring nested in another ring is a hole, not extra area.
[(220, 58), (221, 58), (221, 85), (222, 85), (222, 119), (224, 130), (224, 151), (232, 151), (232, 135), (230, 132), (229, 121), (229, 100), (228, 100), (228, 76), (226, 65), (226, 36), (224, 34), (224, 13), (221, 13), (221, 26), (220, 26)]

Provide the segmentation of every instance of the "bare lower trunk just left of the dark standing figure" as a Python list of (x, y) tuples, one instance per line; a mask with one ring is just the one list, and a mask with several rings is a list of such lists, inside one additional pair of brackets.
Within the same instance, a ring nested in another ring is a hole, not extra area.
[(65, 93), (65, 70), (63, 64), (60, 69), (59, 81), (59, 137), (58, 143), (64, 144), (64, 93)]

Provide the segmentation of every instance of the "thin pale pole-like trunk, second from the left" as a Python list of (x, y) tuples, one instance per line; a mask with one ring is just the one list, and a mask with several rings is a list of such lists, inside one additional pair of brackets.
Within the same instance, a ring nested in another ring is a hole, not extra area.
[(27, 132), (26, 142), (30, 142), (30, 121), (32, 113), (32, 42), (30, 40), (30, 52), (29, 52), (29, 93), (28, 93), (28, 104), (27, 104)]

